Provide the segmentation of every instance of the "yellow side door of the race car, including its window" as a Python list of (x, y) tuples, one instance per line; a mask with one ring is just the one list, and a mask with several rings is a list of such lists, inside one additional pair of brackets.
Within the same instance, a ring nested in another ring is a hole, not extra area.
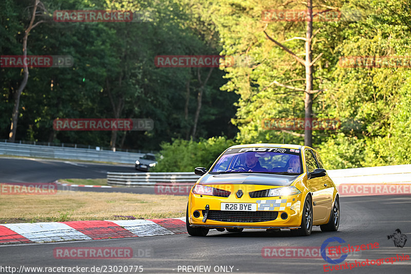
[[(304, 150), (307, 172), (311, 173), (319, 168), (312, 150)], [(320, 222), (327, 217), (329, 209), (328, 191), (324, 177), (310, 178), (307, 180), (308, 189), (312, 192), (313, 221)], [(315, 225), (315, 223), (313, 223)]]

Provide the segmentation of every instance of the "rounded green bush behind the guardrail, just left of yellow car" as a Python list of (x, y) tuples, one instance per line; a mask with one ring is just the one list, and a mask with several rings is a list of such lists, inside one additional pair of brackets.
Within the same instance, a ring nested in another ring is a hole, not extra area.
[[(201, 138), (193, 140), (174, 139), (172, 143), (162, 143), (157, 166), (153, 172), (191, 172), (196, 167), (209, 169), (217, 157), (234, 141), (226, 137)], [(163, 157), (160, 158), (160, 155)]]

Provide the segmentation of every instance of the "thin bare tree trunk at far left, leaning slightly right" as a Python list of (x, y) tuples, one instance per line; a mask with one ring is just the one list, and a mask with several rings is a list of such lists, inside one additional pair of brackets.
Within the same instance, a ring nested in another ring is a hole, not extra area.
[[(37, 10), (37, 6), (39, 5), (40, 0), (34, 0), (34, 7), (33, 13), (31, 15), (30, 24), (27, 29), (24, 31), (23, 37), (23, 57), (27, 57), (27, 39), (29, 36), (29, 32), (38, 24), (42, 23), (43, 21), (39, 21), (33, 25), (35, 19), (35, 12)], [(24, 77), (23, 81), (21, 82), (20, 86), (18, 87), (16, 93), (14, 94), (14, 107), (13, 113), (11, 115), (11, 125), (10, 125), (10, 133), (9, 133), (9, 141), (14, 142), (16, 138), (16, 131), (17, 131), (17, 122), (18, 122), (18, 114), (20, 108), (20, 96), (22, 95), (23, 89), (26, 87), (27, 81), (29, 79), (29, 68), (27, 66), (23, 67)]]

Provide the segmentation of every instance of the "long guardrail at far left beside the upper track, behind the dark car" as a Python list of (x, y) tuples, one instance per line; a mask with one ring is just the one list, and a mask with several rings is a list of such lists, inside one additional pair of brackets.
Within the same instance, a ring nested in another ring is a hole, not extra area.
[(97, 151), (93, 149), (49, 147), (48, 145), (0, 142), (0, 155), (134, 164), (138, 157), (143, 154), (122, 151)]

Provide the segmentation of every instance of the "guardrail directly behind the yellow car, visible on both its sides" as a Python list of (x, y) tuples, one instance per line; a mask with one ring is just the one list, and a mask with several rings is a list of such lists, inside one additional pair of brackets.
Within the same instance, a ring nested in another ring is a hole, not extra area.
[[(411, 183), (411, 165), (328, 170), (336, 185)], [(108, 185), (154, 186), (158, 184), (193, 185), (199, 176), (194, 172), (107, 172)]]

